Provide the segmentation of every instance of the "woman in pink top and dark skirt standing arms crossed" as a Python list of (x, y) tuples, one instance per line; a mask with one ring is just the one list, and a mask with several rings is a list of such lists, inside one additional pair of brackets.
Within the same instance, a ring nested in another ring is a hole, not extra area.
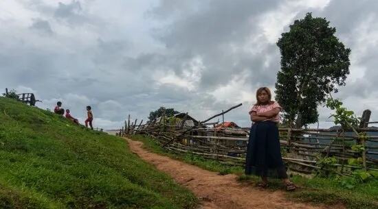
[(245, 159), (245, 174), (258, 175), (262, 182), (258, 186), (268, 186), (267, 177), (278, 177), (283, 180), (287, 190), (295, 190), (296, 186), (287, 177), (285, 164), (282, 161), (278, 123), (281, 107), (276, 101), (271, 101), (269, 88), (258, 88), (257, 103), (249, 111), (254, 124), (249, 133), (247, 156)]

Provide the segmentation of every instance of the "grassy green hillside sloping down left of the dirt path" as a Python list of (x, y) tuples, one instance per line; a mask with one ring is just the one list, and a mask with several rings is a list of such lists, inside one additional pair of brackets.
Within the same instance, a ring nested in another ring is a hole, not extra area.
[(126, 141), (0, 97), (0, 208), (196, 208)]

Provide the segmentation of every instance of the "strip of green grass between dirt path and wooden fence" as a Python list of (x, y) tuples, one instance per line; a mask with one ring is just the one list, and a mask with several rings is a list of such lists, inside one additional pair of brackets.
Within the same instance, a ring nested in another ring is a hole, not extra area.
[[(167, 152), (160, 147), (154, 140), (147, 136), (135, 135), (131, 136), (134, 140), (141, 140), (144, 147), (155, 153), (160, 153), (171, 158), (183, 160), (190, 164), (197, 165), (209, 171), (216, 171), (219, 173), (235, 173), (238, 175), (240, 182), (247, 182), (249, 185), (254, 185), (260, 181), (259, 177), (254, 175), (243, 175), (242, 167), (229, 167), (224, 164), (201, 158), (194, 154), (177, 154)], [(300, 175), (291, 175), (293, 181), (298, 188), (295, 192), (286, 193), (288, 198), (311, 202), (313, 204), (344, 204), (347, 208), (378, 208), (378, 180), (370, 180), (369, 182), (361, 183), (355, 180), (354, 177), (301, 177)], [(252, 184), (251, 184), (252, 183)], [(346, 185), (353, 185), (353, 188), (347, 188)], [(285, 190), (280, 180), (269, 180), (270, 190)]]

